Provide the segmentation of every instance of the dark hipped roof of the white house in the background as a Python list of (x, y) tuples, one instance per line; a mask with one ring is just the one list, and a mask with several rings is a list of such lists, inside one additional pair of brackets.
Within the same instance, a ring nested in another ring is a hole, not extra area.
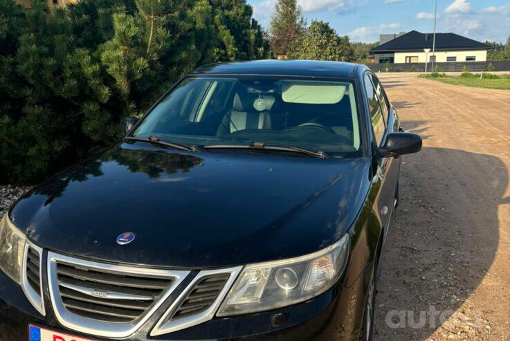
[[(393, 52), (399, 50), (423, 50), (432, 49), (432, 33), (419, 33), (412, 30), (405, 35), (390, 40), (385, 44), (372, 48), (370, 53)], [(455, 33), (436, 33), (436, 50), (490, 50), (491, 46), (477, 42), (476, 40), (456, 35)]]

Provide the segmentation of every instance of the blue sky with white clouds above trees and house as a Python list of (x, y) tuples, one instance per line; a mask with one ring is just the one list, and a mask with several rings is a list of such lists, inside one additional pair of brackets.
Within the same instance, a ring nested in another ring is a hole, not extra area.
[[(268, 28), (275, 0), (248, 0)], [(381, 33), (432, 33), (434, 0), (298, 0), (307, 22), (328, 21), (351, 42), (378, 42)], [(437, 32), (504, 43), (510, 35), (510, 0), (437, 0)]]

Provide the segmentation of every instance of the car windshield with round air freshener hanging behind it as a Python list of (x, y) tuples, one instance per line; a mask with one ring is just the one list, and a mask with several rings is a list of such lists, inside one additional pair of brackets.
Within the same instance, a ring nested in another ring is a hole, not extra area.
[(286, 145), (357, 156), (354, 82), (293, 77), (187, 77), (130, 134), (199, 146)]

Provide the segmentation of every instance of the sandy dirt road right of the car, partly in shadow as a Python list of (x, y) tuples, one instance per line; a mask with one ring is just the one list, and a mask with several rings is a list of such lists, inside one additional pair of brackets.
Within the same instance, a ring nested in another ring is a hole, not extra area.
[(376, 340), (510, 340), (510, 91), (381, 74), (406, 131)]

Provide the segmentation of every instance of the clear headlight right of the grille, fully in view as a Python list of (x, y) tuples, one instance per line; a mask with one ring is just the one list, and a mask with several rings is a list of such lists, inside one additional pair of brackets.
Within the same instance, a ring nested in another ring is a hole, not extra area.
[(268, 311), (316, 297), (345, 270), (349, 235), (311, 255), (245, 266), (217, 316)]

